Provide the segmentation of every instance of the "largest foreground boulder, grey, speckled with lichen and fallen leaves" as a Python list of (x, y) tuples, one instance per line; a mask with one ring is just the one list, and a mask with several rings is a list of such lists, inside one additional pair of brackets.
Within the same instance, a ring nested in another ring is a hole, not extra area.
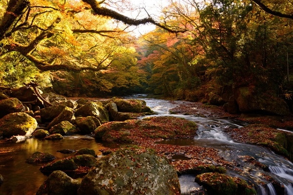
[(138, 147), (102, 157), (78, 189), (78, 195), (138, 194), (180, 194), (177, 173), (167, 159)]

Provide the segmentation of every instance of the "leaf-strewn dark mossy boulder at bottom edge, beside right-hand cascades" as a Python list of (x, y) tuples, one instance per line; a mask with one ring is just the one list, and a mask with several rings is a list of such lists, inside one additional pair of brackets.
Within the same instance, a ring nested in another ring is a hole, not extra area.
[(209, 195), (255, 195), (256, 191), (245, 180), (220, 173), (204, 173), (195, 177)]

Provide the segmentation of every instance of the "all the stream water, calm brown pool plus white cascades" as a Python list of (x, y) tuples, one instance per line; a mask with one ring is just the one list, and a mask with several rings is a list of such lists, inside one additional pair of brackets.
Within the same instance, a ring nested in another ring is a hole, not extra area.
[[(193, 139), (165, 140), (161, 143), (215, 148), (226, 160), (233, 160), (239, 163), (239, 168), (244, 170), (241, 175), (233, 171), (229, 171), (227, 174), (241, 177), (252, 183), (259, 180), (264, 182), (265, 185), (257, 185), (255, 183), (258, 195), (277, 195), (272, 183), (263, 181), (259, 177), (261, 174), (259, 170), (251, 170), (251, 165), (243, 163), (243, 160), (239, 158), (239, 156), (252, 156), (257, 161), (269, 166), (271, 173), (266, 172), (266, 174), (269, 174), (285, 186), (285, 195), (293, 195), (292, 162), (282, 156), (275, 155), (265, 148), (236, 143), (222, 131), (227, 127), (239, 128), (246, 124), (223, 118), (170, 115), (169, 109), (184, 102), (143, 99), (146, 101), (147, 106), (151, 107), (157, 114), (154, 116), (184, 117), (195, 121), (199, 125), (198, 135)], [(68, 155), (58, 153), (57, 150), (91, 148), (96, 151), (96, 154), (101, 155), (99, 150), (103, 147), (102, 143), (98, 143), (93, 137), (87, 136), (70, 136), (57, 141), (30, 138), (19, 143), (0, 140), (0, 174), (4, 177), (4, 182), (0, 186), (0, 195), (33, 195), (37, 192), (47, 176), (44, 176), (39, 170), (42, 164), (25, 163), (25, 160), (34, 152), (49, 153), (57, 158), (63, 158)], [(249, 171), (246, 171), (246, 169)], [(195, 176), (192, 175), (179, 177), (182, 195), (189, 195), (193, 188), (199, 187), (194, 182), (194, 178)]]

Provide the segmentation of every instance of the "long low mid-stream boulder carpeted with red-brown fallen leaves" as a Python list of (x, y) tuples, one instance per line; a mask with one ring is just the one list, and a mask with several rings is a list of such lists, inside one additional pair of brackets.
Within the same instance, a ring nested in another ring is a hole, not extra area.
[(148, 117), (143, 120), (108, 122), (95, 130), (95, 138), (107, 142), (134, 143), (140, 139), (194, 137), (197, 125), (178, 117)]

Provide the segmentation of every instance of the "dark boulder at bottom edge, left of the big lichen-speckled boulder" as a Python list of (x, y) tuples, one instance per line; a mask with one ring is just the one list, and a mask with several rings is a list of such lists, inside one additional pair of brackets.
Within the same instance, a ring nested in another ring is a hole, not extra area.
[(62, 171), (54, 171), (40, 186), (36, 195), (76, 195), (80, 181)]

